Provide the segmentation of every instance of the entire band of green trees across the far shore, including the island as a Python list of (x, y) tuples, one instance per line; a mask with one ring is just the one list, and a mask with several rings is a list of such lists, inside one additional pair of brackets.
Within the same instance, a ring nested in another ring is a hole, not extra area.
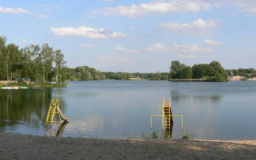
[(172, 61), (169, 73), (101, 72), (89, 66), (68, 68), (61, 50), (53, 50), (47, 43), (19, 49), (14, 43), (6, 45), (6, 41), (6, 37), (0, 37), (0, 80), (8, 84), (15, 80), (17, 83), (27, 81), (44, 87), (47, 82), (78, 80), (227, 81), (228, 76), (244, 76), (245, 79), (256, 76), (255, 69), (225, 70), (218, 61), (192, 67)]

